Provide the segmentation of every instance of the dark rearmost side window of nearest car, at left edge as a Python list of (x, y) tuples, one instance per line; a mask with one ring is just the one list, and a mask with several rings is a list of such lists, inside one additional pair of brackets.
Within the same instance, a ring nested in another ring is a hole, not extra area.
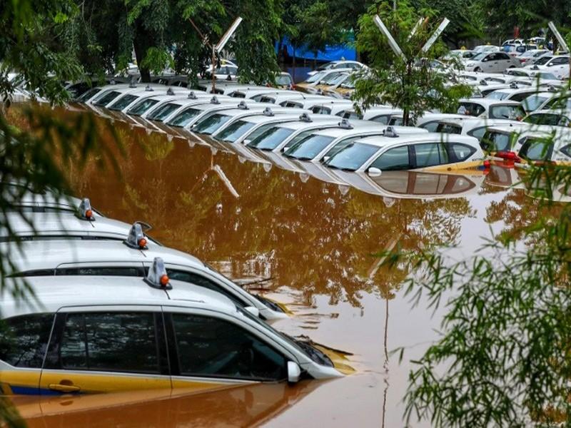
[(0, 360), (40, 369), (53, 324), (54, 314), (20, 315), (0, 322)]

